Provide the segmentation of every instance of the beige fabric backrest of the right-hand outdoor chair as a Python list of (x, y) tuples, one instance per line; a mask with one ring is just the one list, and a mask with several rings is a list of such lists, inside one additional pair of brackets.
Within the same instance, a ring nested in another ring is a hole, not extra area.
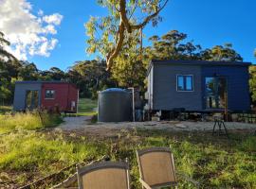
[(174, 182), (174, 164), (170, 152), (150, 152), (139, 157), (142, 180), (150, 186)]

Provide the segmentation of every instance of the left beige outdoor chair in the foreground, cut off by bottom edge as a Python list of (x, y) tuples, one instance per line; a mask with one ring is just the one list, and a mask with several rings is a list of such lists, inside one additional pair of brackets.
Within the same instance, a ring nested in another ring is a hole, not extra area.
[(129, 165), (125, 162), (101, 162), (77, 167), (80, 189), (129, 189)]

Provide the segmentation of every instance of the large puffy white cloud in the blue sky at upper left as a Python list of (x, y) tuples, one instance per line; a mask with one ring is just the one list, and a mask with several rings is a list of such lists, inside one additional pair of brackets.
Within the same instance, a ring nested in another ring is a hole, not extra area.
[(63, 16), (44, 15), (42, 9), (34, 15), (27, 0), (0, 0), (0, 5), (0, 31), (11, 43), (7, 50), (20, 60), (34, 55), (50, 56), (58, 43), (52, 35), (57, 34), (56, 26), (61, 24)]

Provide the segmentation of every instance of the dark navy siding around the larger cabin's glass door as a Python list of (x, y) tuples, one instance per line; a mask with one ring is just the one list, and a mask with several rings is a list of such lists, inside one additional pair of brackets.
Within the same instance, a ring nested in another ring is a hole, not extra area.
[[(228, 78), (229, 110), (249, 110), (248, 68), (245, 66), (204, 66), (202, 68), (203, 80), (205, 77), (214, 76), (214, 74)], [(204, 90), (205, 88), (203, 88)]]

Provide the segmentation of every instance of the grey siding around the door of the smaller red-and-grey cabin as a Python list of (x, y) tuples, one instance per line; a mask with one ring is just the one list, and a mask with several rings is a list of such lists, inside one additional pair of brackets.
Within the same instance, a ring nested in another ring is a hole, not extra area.
[(38, 90), (39, 106), (41, 105), (41, 83), (16, 83), (13, 101), (14, 111), (23, 111), (26, 108), (26, 91)]

